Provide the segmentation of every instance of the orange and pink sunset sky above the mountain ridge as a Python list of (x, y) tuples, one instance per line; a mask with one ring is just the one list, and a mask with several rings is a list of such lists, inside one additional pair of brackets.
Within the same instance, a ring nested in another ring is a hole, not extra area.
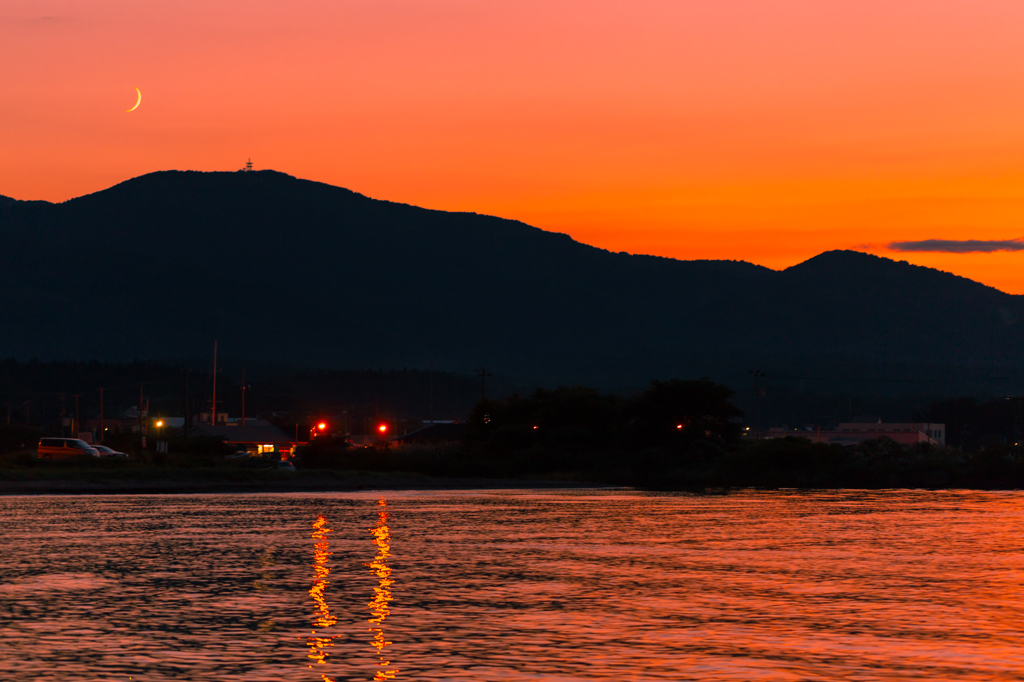
[(1024, 250), (889, 247), (1024, 237), (1020, 0), (4, 0), (0, 85), (16, 199), (251, 157), (615, 251), (1024, 294)]

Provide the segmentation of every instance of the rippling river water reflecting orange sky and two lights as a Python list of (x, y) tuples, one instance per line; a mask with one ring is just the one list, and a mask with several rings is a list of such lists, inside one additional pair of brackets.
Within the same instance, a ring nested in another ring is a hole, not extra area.
[(0, 499), (0, 680), (1021, 680), (1024, 495)]

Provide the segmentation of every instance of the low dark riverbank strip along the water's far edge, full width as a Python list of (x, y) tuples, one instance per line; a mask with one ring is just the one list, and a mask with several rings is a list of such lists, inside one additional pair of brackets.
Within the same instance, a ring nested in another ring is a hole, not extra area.
[(740, 488), (1024, 489), (1024, 450), (964, 453), (888, 439), (854, 446), (785, 438), (722, 447), (615, 450), (597, 443), (515, 449), (489, 443), (319, 447), (299, 454), (297, 470), (269, 460), (142, 453), (127, 459), (39, 460), (0, 456), (0, 495), (292, 493), (360, 489), (464, 489), (627, 486), (649, 491)]

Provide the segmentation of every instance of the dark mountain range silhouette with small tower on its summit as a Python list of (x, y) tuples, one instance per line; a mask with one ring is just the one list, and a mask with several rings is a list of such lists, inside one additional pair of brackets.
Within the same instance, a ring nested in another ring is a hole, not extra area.
[[(272, 172), (0, 199), (0, 356), (485, 365), (641, 385), (762, 365), (1024, 365), (1024, 297), (850, 251), (774, 271), (612, 253)], [(881, 369), (880, 369), (881, 368)]]

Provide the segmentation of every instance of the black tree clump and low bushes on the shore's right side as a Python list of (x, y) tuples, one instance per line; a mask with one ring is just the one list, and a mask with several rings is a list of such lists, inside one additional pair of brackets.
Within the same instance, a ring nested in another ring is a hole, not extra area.
[(855, 446), (743, 437), (731, 391), (708, 380), (654, 382), (633, 398), (585, 388), (484, 401), (449, 443), (351, 449), (321, 441), (323, 469), (431, 476), (563, 478), (650, 489), (723, 487), (1024, 487), (1024, 447), (965, 452), (888, 438)]

